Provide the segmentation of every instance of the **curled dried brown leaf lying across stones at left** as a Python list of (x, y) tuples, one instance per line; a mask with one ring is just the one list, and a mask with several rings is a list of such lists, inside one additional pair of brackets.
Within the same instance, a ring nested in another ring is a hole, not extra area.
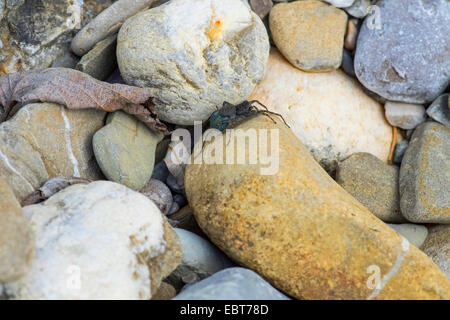
[(99, 81), (74, 69), (35, 69), (0, 77), (0, 122), (15, 104), (33, 102), (53, 102), (75, 110), (123, 110), (151, 130), (168, 134), (165, 124), (157, 118), (148, 90)]

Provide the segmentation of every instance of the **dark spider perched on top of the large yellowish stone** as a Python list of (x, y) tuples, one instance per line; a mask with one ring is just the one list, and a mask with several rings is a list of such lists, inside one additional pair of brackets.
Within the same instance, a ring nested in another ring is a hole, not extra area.
[[(258, 104), (263, 107), (264, 110), (258, 109), (254, 104)], [(240, 122), (260, 113), (267, 115), (274, 123), (275, 120), (270, 117), (270, 114), (279, 116), (286, 126), (289, 127), (281, 114), (269, 111), (269, 109), (258, 100), (244, 101), (238, 105), (233, 105), (224, 101), (222, 108), (214, 111), (211, 115), (209, 124), (211, 128), (224, 131), (230, 123)]]

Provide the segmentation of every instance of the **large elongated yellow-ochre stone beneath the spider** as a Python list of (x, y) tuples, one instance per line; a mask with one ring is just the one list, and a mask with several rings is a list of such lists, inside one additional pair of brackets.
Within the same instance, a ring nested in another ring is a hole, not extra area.
[[(209, 239), (294, 298), (449, 299), (450, 280), (431, 259), (344, 191), (275, 121), (259, 115), (235, 127), (278, 129), (278, 141), (270, 138), (278, 147), (274, 174), (262, 174), (268, 161), (257, 155), (255, 165), (187, 165), (188, 201)], [(198, 154), (226, 144), (205, 142)], [(234, 154), (250, 153), (244, 148)], [(370, 266), (380, 271), (380, 288)]]

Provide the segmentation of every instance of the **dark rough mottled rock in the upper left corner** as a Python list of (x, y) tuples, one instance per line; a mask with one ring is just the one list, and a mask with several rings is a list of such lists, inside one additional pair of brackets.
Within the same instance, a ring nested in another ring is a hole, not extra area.
[[(94, 3), (95, 2), (95, 3)], [(77, 29), (112, 0), (15, 0), (0, 10), (0, 75), (47, 68), (69, 52)]]

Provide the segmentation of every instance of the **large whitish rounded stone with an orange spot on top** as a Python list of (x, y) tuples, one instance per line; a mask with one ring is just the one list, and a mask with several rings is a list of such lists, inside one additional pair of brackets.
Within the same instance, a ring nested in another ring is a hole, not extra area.
[(158, 116), (182, 125), (246, 100), (268, 53), (264, 24), (240, 0), (172, 0), (128, 19), (117, 42), (125, 81), (148, 87)]

